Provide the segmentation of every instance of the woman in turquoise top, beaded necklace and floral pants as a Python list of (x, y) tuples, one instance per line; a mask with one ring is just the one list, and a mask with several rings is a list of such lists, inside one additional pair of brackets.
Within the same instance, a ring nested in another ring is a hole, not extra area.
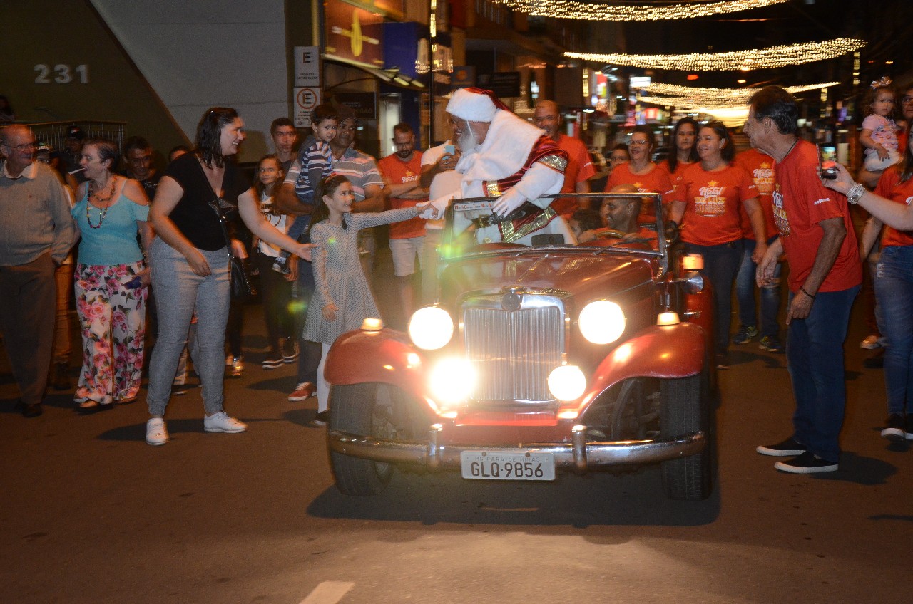
[(112, 169), (120, 159), (107, 139), (83, 144), (73, 218), (82, 241), (76, 266), (76, 309), (82, 331), (82, 370), (74, 401), (80, 410), (111, 409), (136, 400), (142, 373), (152, 229), (142, 186)]

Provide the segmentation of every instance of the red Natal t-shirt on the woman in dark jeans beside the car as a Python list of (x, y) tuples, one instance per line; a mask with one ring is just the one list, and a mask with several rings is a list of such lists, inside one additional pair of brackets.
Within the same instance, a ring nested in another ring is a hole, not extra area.
[(739, 206), (758, 196), (748, 172), (729, 164), (708, 172), (693, 163), (682, 172), (672, 199), (685, 203), (682, 241), (694, 245), (721, 245), (741, 239)]

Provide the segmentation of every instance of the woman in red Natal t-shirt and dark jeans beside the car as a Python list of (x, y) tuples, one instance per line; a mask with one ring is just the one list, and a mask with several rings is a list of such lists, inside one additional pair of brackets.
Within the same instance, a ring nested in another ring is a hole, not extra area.
[(729, 321), (732, 285), (739, 271), (742, 233), (739, 204), (745, 207), (755, 235), (752, 259), (757, 263), (767, 251), (764, 217), (758, 189), (750, 174), (732, 163), (735, 145), (729, 130), (710, 121), (698, 130), (700, 161), (682, 172), (672, 194), (669, 218), (682, 225), (681, 238), (688, 254), (704, 256), (704, 277), (713, 286), (716, 312), (717, 367), (729, 367)]

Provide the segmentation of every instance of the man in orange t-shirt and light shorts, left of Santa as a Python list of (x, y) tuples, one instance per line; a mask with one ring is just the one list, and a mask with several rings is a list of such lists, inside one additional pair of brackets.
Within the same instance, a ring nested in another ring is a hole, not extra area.
[[(394, 126), (394, 146), (396, 152), (393, 155), (377, 162), (377, 167), (383, 173), (383, 194), (390, 197), (391, 207), (397, 210), (428, 201), (428, 194), (419, 182), (422, 155), (415, 152), (415, 131), (412, 126), (405, 122)], [(394, 258), (394, 274), (406, 317), (415, 310), (412, 276), (415, 273), (416, 257), (421, 266), (424, 245), (424, 219), (416, 217), (390, 225), (390, 252)]]

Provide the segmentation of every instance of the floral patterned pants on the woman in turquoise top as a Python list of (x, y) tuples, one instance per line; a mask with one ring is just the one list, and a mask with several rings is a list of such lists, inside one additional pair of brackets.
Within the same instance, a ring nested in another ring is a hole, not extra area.
[(82, 330), (76, 401), (131, 401), (140, 390), (147, 291), (127, 284), (142, 267), (142, 262), (76, 266), (76, 310)]

